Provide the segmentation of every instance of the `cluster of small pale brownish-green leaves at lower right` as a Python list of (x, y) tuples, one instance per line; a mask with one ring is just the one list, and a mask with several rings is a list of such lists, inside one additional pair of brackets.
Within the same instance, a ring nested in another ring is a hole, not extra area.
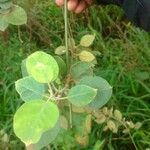
[(120, 127), (123, 127), (123, 133), (129, 133), (131, 129), (139, 129), (142, 123), (137, 122), (133, 123), (132, 121), (127, 121), (123, 117), (122, 113), (117, 110), (107, 107), (104, 107), (93, 113), (95, 122), (98, 124), (104, 124), (103, 131), (110, 130), (113, 133), (117, 133)]

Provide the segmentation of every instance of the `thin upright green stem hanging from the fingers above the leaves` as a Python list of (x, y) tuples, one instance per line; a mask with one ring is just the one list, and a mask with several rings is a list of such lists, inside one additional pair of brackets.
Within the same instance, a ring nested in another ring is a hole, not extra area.
[(64, 21), (65, 21), (65, 47), (66, 47), (66, 64), (69, 70), (69, 48), (68, 48), (68, 11), (67, 0), (64, 0)]

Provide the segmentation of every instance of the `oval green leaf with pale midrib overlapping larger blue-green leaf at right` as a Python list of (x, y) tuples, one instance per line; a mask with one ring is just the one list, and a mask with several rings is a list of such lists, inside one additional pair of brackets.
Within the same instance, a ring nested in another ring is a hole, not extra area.
[(76, 85), (69, 90), (68, 100), (75, 106), (85, 106), (96, 96), (97, 89), (86, 85)]

